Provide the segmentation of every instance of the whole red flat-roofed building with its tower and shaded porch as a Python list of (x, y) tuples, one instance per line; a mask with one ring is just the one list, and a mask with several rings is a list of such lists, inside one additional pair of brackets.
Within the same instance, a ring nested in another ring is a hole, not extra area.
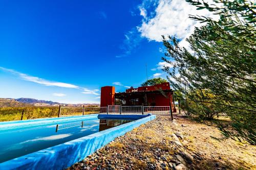
[(125, 92), (115, 93), (115, 87), (101, 87), (100, 106), (122, 104), (126, 106), (172, 106), (176, 112), (173, 101), (174, 91), (168, 82), (154, 86), (144, 86), (126, 89)]

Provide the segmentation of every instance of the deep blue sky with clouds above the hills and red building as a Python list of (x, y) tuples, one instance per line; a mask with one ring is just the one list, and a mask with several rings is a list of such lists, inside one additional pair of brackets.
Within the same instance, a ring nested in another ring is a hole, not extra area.
[[(182, 8), (183, 7), (183, 8)], [(190, 9), (191, 8), (191, 9)], [(0, 98), (99, 103), (161, 71), (161, 35), (185, 38), (198, 23), (180, 0), (1, 1)]]

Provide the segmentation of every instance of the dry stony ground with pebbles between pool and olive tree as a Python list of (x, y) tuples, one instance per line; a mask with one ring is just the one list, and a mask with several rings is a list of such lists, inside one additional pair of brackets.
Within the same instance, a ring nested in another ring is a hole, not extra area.
[(186, 118), (157, 116), (68, 169), (256, 169), (255, 146)]

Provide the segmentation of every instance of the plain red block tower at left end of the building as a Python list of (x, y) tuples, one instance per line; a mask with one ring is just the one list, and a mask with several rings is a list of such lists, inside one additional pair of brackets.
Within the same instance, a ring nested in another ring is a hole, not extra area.
[(101, 87), (100, 107), (106, 107), (108, 105), (115, 105), (115, 87), (114, 86)]

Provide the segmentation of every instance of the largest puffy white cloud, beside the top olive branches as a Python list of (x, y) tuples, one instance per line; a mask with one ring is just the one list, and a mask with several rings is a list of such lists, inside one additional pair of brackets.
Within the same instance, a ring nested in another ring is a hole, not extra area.
[[(146, 1), (144, 1), (143, 4)], [(140, 7), (143, 9), (143, 7)], [(177, 36), (179, 39), (188, 37), (193, 33), (194, 28), (200, 26), (195, 20), (188, 18), (188, 15), (203, 15), (214, 17), (207, 10), (196, 10), (196, 7), (181, 0), (160, 0), (155, 9), (155, 16), (151, 19), (143, 19), (138, 31), (142, 37), (148, 40), (162, 41), (161, 35)]]

